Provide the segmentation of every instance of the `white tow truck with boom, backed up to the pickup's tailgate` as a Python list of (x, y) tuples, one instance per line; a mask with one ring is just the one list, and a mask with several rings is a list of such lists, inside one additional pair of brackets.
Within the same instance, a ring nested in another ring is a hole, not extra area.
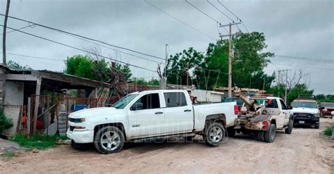
[(256, 135), (256, 139), (264, 142), (273, 142), (276, 130), (285, 130), (291, 134), (293, 128), (292, 107), (287, 107), (279, 97), (254, 96), (247, 97), (237, 87), (233, 88), (236, 97), (244, 101), (237, 116), (235, 127), (228, 128), (228, 135), (236, 132), (245, 135)]

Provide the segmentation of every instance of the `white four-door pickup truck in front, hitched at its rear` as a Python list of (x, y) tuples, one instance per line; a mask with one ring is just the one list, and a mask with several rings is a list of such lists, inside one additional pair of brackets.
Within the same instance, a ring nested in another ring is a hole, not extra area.
[(102, 154), (120, 151), (136, 139), (202, 135), (211, 146), (225, 137), (237, 119), (235, 102), (192, 104), (185, 90), (151, 90), (128, 94), (112, 107), (89, 108), (68, 116), (72, 147), (94, 143)]

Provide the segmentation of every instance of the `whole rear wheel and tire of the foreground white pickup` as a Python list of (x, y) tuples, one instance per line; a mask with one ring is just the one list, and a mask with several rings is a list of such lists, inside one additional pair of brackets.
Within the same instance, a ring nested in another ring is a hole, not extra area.
[(212, 123), (207, 125), (203, 135), (204, 142), (211, 147), (216, 147), (223, 143), (225, 137), (225, 129), (220, 123)]

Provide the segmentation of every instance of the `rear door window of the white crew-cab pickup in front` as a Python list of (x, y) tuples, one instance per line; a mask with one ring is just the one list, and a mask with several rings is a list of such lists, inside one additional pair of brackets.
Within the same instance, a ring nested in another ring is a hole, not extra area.
[(165, 96), (166, 107), (178, 107), (187, 106), (187, 101), (185, 100), (185, 94), (183, 92), (166, 92), (163, 93)]

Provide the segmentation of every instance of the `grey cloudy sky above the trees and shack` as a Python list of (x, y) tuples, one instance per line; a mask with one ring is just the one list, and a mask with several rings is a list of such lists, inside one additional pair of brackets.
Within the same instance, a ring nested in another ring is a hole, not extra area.
[[(226, 34), (223, 28), (217, 27), (214, 20), (183, 0), (147, 1), (196, 30), (159, 11), (144, 0), (11, 0), (9, 15), (161, 58), (165, 56), (166, 44), (168, 44), (169, 54), (175, 54), (190, 46), (198, 51), (205, 51), (209, 42), (215, 42), (215, 39), (218, 39), (218, 31), (223, 35)], [(230, 23), (228, 18), (206, 0), (188, 1), (220, 23)], [(210, 2), (235, 20), (235, 16), (221, 4), (218, 4), (216, 0), (210, 0)], [(272, 63), (266, 68), (266, 73), (273, 73), (273, 71), (280, 69), (302, 68), (310, 74), (310, 88), (314, 89), (316, 94), (334, 94), (334, 3), (332, 0), (221, 0), (221, 2), (242, 19), (249, 32), (264, 32), (268, 44), (266, 51), (272, 51), (276, 55), (297, 57), (271, 58)], [(0, 13), (4, 14), (5, 11), (6, 0), (0, 0)], [(0, 17), (0, 23), (1, 25), (4, 23), (3, 16)], [(8, 20), (8, 27), (18, 29), (27, 25), (28, 23), (18, 20)], [(242, 25), (239, 28), (246, 32)], [(236, 31), (237, 28), (233, 27), (233, 30)], [(10, 30), (8, 29), (8, 31)], [(94, 46), (92, 43), (38, 26), (27, 27), (22, 31), (80, 49)], [(7, 52), (10, 54), (58, 60), (51, 61), (8, 54), (8, 60), (18, 61), (34, 69), (63, 70), (64, 63), (62, 61), (67, 56), (84, 54), (82, 51), (20, 32), (9, 32), (6, 43)], [(104, 56), (150, 70), (155, 70), (157, 67), (157, 63), (153, 61), (120, 52), (116, 53), (111, 49), (102, 47), (101, 52)], [(125, 52), (133, 54), (129, 51)], [(161, 59), (138, 56), (161, 62)], [(156, 73), (139, 68), (132, 68), (132, 72), (137, 77), (157, 77)]]

